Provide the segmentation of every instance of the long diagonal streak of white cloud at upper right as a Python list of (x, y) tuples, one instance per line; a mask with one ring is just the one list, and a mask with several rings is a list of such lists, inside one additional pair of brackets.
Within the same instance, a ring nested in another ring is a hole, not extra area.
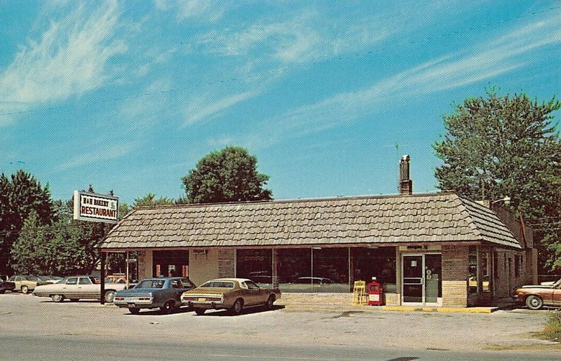
[[(382, 101), (459, 88), (521, 69), (532, 61), (532, 50), (561, 42), (561, 15), (515, 30), (470, 50), (450, 53), (400, 71), (361, 90), (339, 93), (264, 121), (243, 139), (267, 139), (262, 147), (319, 132), (372, 113)], [(547, 36), (544, 36), (547, 34)]]

